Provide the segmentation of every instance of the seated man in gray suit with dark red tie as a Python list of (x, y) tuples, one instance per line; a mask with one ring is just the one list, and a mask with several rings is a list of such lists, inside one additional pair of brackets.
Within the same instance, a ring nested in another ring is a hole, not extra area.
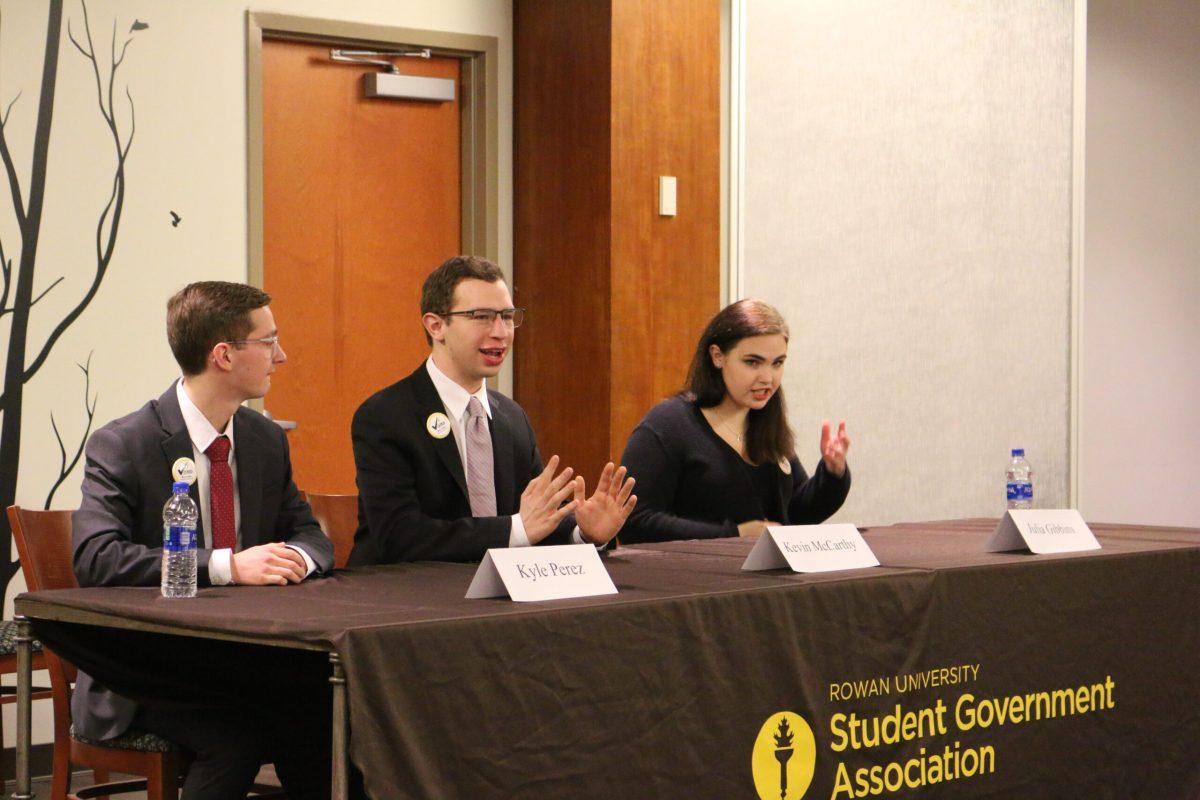
[[(269, 302), (259, 289), (223, 282), (193, 283), (168, 302), (167, 337), (184, 378), (88, 443), (72, 521), (80, 585), (160, 582), (162, 507), (181, 480), (200, 510), (199, 585), (287, 585), (332, 569), (332, 545), (292, 481), (283, 432), (241, 405), (263, 397), (287, 360)], [(163, 709), (84, 673), (72, 698), (80, 736), (143, 729), (192, 751), (184, 800), (244, 798), (268, 762), (293, 800), (328, 798), (328, 698), (304, 697), (284, 708)]]

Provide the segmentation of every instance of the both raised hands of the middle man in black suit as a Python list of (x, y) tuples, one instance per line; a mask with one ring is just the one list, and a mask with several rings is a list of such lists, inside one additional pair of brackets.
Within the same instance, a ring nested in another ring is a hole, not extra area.
[(624, 467), (608, 462), (600, 473), (596, 491), (587, 497), (583, 477), (572, 480), (574, 469), (568, 467), (556, 475), (558, 462), (558, 456), (552, 456), (541, 475), (529, 481), (521, 493), (521, 522), (529, 543), (536, 545), (552, 534), (574, 511), (584, 541), (607, 545), (637, 505), (634, 479), (625, 476)]

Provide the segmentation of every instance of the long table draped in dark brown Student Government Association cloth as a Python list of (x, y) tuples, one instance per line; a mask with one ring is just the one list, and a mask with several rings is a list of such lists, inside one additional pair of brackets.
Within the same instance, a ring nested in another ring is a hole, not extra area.
[(833, 573), (624, 546), (618, 594), (538, 603), (445, 563), (24, 594), (13, 796), (30, 634), (145, 702), (331, 693), (340, 799), (348, 758), (377, 800), (1200, 796), (1200, 530), (986, 553), (996, 522), (864, 529), (880, 566)]

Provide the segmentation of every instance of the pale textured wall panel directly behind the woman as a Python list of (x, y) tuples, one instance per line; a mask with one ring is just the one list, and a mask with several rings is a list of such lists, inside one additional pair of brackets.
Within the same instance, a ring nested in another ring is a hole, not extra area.
[(1069, 0), (746, 0), (748, 296), (791, 323), (800, 461), (844, 417), (859, 524), (1067, 504)]

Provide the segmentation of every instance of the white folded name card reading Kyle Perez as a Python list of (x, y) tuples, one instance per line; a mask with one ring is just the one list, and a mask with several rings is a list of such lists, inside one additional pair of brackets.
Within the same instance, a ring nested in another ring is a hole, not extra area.
[(617, 587), (592, 545), (494, 547), (467, 588), (467, 600), (511, 597), (518, 602), (614, 594)]

